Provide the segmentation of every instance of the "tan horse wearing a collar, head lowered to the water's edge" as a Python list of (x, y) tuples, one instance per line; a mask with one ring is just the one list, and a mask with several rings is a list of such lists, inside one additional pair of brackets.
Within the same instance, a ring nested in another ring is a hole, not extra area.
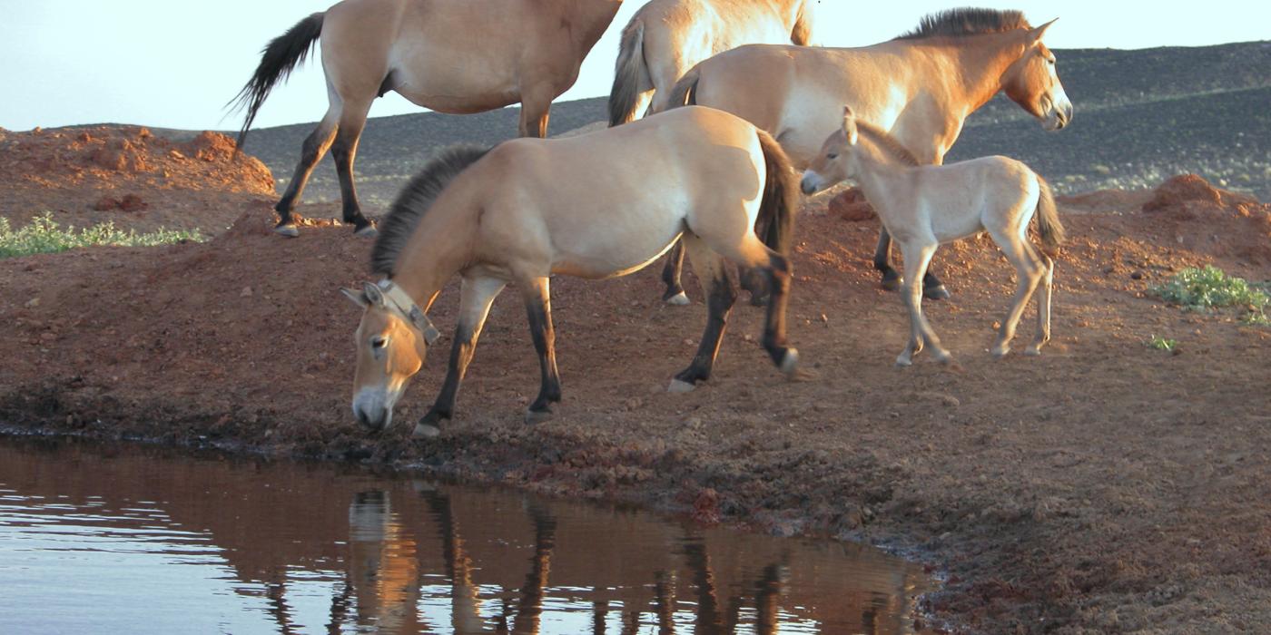
[[(371, 269), (385, 279), (344, 290), (366, 309), (356, 334), (355, 417), (371, 428), (389, 425), (437, 337), (426, 314), (454, 276), (463, 283), (450, 366), (414, 436), (435, 436), (450, 419), (491, 302), (508, 282), (521, 290), (543, 373), (526, 418), (549, 417), (561, 400), (549, 276), (632, 273), (680, 237), (709, 301), (697, 356), (670, 390), (693, 390), (710, 376), (737, 296), (724, 259), (766, 274), (771, 302), (763, 344), (782, 372), (794, 375), (785, 298), (797, 188), (777, 141), (709, 108), (571, 138), (444, 152), (407, 184), (384, 221)], [(777, 227), (766, 245), (755, 235), (756, 220)]]

